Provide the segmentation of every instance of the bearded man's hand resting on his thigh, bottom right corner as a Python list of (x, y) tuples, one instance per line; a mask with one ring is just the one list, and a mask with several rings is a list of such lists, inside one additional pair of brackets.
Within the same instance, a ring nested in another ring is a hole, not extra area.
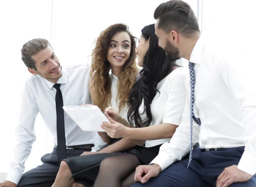
[(236, 182), (249, 181), (253, 175), (239, 170), (236, 165), (226, 167), (218, 176), (216, 187), (228, 187)]

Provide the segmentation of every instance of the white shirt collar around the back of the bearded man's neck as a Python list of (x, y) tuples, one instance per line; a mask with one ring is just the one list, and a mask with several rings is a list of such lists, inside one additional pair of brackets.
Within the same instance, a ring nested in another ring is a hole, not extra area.
[(205, 43), (206, 43), (206, 40), (204, 36), (201, 35), (198, 38), (197, 42), (195, 43), (195, 46), (190, 55), (189, 62), (201, 64), (201, 56), (202, 56)]

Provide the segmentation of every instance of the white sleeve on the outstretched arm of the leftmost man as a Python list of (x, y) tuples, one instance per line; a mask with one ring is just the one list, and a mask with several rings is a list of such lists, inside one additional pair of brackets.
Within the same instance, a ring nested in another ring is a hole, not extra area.
[(38, 106), (35, 101), (34, 92), (32, 91), (31, 82), (27, 81), (23, 87), (20, 104), (20, 116), (15, 133), (17, 136), (16, 146), (14, 149), (14, 160), (11, 163), (6, 180), (18, 184), (22, 173), (25, 169), (24, 162), (29, 157), (34, 143), (35, 118), (38, 115)]

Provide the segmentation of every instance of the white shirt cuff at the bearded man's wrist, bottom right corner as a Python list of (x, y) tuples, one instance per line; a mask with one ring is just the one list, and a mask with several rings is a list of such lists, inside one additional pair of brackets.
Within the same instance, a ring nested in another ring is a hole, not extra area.
[(239, 161), (238, 169), (250, 175), (256, 174), (256, 155), (244, 150), (244, 153)]

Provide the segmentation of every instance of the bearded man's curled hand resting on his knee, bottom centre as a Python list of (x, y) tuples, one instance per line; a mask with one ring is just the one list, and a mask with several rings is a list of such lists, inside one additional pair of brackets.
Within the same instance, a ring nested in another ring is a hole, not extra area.
[(161, 167), (157, 164), (138, 166), (135, 171), (134, 181), (146, 183), (151, 177), (159, 175), (160, 172)]

